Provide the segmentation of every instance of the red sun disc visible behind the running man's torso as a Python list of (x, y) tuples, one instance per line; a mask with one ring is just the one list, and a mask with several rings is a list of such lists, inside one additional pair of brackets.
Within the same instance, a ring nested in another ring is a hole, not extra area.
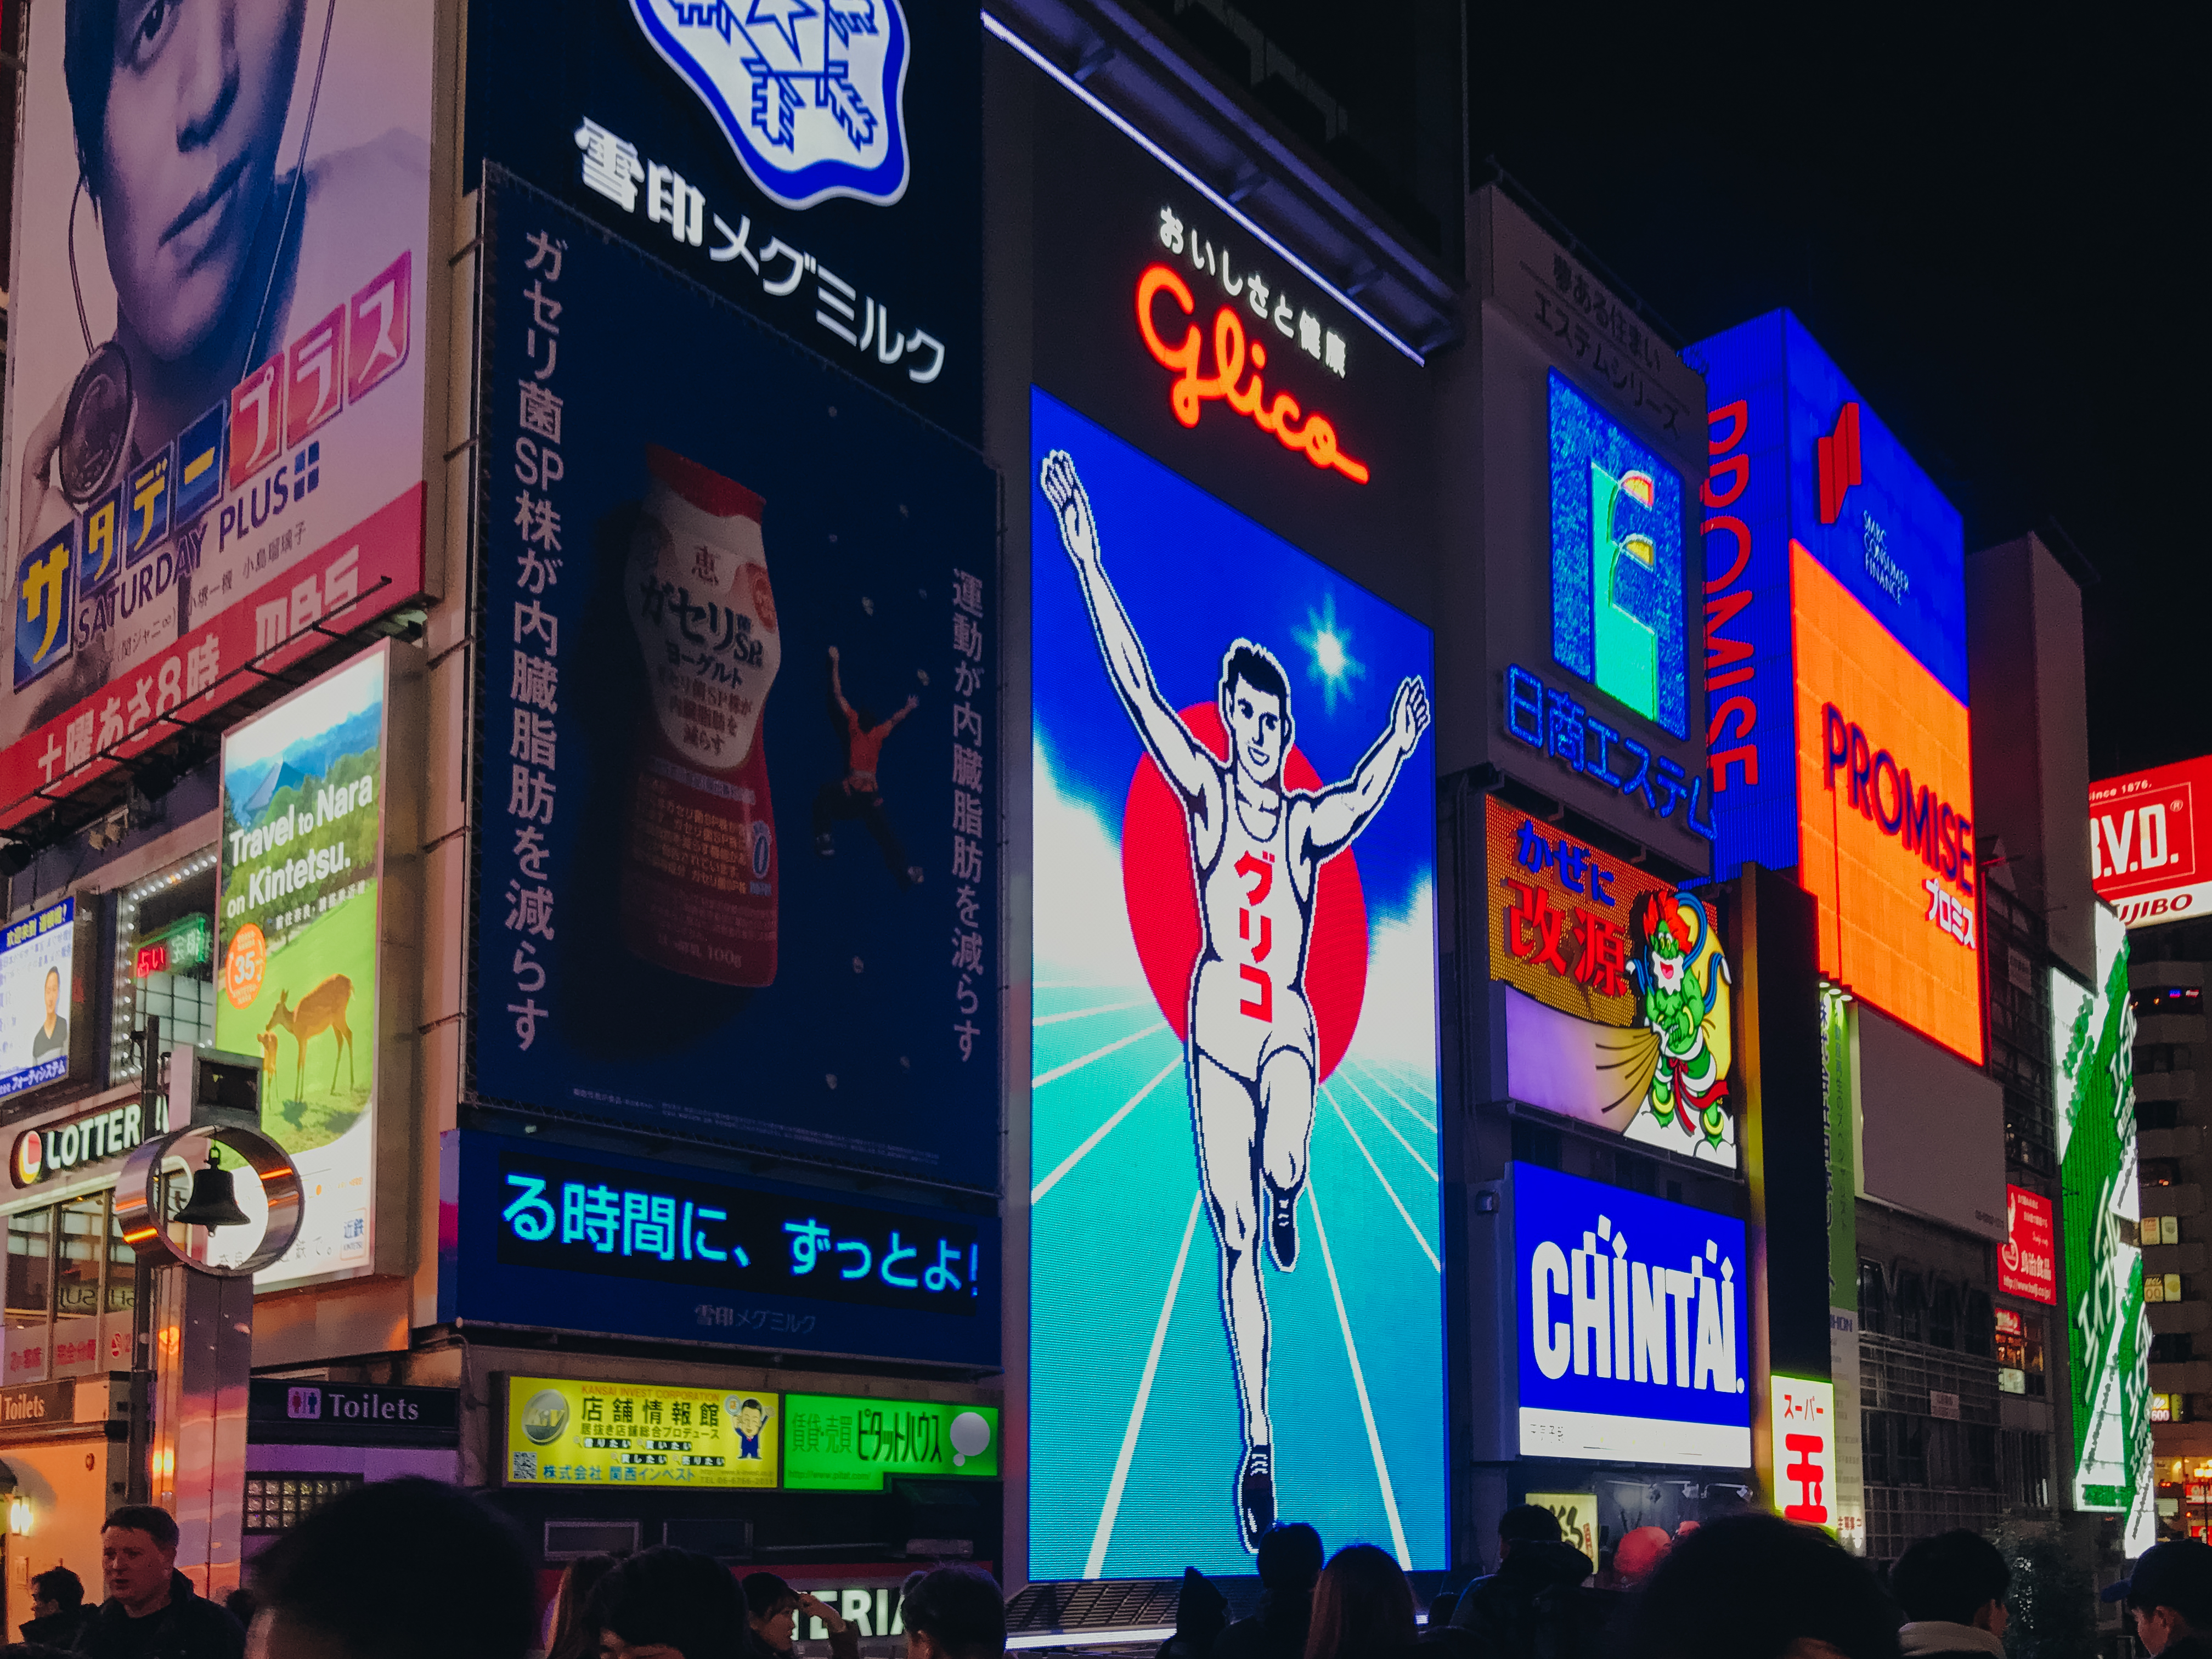
[[(1219, 708), (1192, 703), (1181, 710), (1181, 721), (1208, 754), (1228, 761), (1230, 739)], [(1321, 774), (1296, 748), (1283, 757), (1283, 785), (1323, 787)], [(1137, 761), (1121, 807), (1121, 902), (1152, 1000), (1183, 1042), (1190, 1037), (1190, 971), (1199, 962), (1199, 885), (1190, 867), (1183, 803), (1150, 754)], [(1367, 894), (1349, 847), (1321, 867), (1314, 889), (1305, 1000), (1314, 1009), (1321, 1077), (1327, 1077), (1352, 1046), (1367, 1000)]]

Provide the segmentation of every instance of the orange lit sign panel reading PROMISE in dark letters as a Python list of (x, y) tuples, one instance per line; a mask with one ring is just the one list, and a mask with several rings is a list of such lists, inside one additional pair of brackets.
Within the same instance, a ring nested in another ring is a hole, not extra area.
[(1966, 706), (1790, 544), (1798, 883), (1820, 973), (1982, 1064), (1982, 940)]

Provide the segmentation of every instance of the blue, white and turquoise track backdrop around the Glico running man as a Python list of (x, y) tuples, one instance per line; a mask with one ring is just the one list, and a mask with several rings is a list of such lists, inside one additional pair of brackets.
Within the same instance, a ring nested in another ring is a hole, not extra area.
[[(1400, 681), (1431, 681), (1431, 635), (1042, 392), (1031, 442), (1029, 1571), (1250, 1573), (1241, 1396), (1175, 1029), (1199, 942), (1190, 849), (1175, 796), (1144, 776), (1037, 465), (1073, 456), (1104, 571), (1192, 728), (1212, 714), (1230, 641), (1259, 641), (1290, 677), (1296, 757), (1336, 783), (1391, 730)], [(1332, 1546), (1365, 1537), (1411, 1566), (1444, 1566), (1447, 1498), (1433, 801), (1420, 739), (1352, 852), (1321, 867), (1310, 1179), (1294, 1270), (1261, 1265), (1276, 1509)]]

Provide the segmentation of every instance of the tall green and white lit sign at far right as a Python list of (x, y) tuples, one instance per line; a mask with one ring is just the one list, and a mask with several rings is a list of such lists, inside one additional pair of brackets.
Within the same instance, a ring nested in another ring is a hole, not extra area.
[(2066, 1352), (2075, 1502), (2119, 1511), (2126, 1548), (2157, 1533), (2150, 1323), (2143, 1316), (2128, 929), (2097, 907), (2097, 982), (2051, 975), (2051, 1075), (2066, 1203)]

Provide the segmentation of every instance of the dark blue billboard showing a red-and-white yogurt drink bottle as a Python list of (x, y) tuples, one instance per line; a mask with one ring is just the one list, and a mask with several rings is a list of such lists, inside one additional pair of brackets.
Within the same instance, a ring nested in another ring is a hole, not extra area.
[(491, 179), (476, 1088), (995, 1190), (991, 476)]

